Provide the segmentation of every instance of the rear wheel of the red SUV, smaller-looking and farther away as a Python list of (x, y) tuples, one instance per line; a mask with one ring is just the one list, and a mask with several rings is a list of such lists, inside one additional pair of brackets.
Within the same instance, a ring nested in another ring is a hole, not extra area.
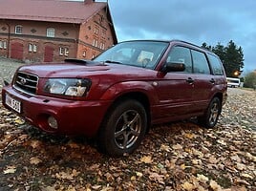
[(218, 122), (221, 112), (222, 112), (221, 100), (219, 97), (215, 96), (211, 100), (203, 117), (198, 117), (199, 123), (207, 129), (213, 128)]

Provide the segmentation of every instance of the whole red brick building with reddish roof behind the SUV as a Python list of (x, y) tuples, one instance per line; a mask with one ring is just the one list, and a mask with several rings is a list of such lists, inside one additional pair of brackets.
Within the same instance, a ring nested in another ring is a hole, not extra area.
[(91, 59), (114, 44), (107, 3), (0, 0), (0, 56), (44, 62)]

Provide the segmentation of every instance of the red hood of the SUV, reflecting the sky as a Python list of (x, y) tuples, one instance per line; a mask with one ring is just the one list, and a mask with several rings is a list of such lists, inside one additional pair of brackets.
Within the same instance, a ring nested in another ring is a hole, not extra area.
[(19, 69), (20, 72), (36, 74), (40, 78), (50, 77), (89, 77), (91, 75), (120, 75), (125, 78), (137, 75), (137, 78), (144, 78), (156, 73), (156, 71), (112, 63), (43, 63), (25, 65)]

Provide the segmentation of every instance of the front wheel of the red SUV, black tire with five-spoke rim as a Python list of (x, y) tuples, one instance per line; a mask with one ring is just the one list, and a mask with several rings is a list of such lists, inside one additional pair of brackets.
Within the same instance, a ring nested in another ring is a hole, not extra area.
[(99, 150), (112, 157), (133, 153), (145, 136), (147, 115), (139, 101), (117, 101), (109, 110), (99, 129)]

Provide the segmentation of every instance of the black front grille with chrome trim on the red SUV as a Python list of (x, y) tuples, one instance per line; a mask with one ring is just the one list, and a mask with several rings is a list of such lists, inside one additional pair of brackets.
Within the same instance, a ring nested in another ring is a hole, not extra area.
[(36, 87), (38, 83), (38, 77), (34, 74), (21, 73), (15, 74), (14, 78), (14, 88), (35, 95)]

